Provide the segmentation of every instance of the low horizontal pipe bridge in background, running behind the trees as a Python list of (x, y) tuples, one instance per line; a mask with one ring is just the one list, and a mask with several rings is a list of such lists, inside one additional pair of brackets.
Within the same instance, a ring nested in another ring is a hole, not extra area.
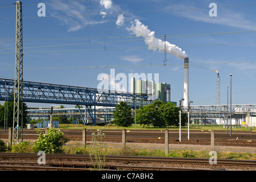
[[(248, 116), (256, 116), (256, 105), (232, 105), (232, 118), (238, 121), (245, 119)], [(105, 118), (110, 121), (113, 118), (113, 111), (115, 107), (104, 107), (95, 109), (97, 118)], [(185, 111), (187, 111), (185, 109)], [(27, 110), (28, 117), (49, 117), (51, 109), (30, 108)], [(77, 122), (77, 118), (82, 118), (84, 123), (88, 123), (89, 111), (86, 108), (73, 109), (53, 109), (54, 117), (73, 117), (73, 123)], [(191, 119), (219, 119), (227, 122), (230, 118), (230, 106), (226, 105), (204, 105), (204, 106), (190, 106)]]

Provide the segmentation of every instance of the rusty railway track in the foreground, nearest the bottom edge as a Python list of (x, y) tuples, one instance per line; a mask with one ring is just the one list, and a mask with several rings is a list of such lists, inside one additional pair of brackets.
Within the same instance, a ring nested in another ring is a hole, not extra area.
[[(20, 160), (25, 160), (21, 162)], [(93, 164), (88, 164), (93, 156), (81, 154), (46, 154), (46, 164), (37, 164), (37, 154), (0, 153), (0, 169), (2, 170), (44, 170), (44, 171), (88, 171)], [(33, 160), (34, 162), (27, 162)], [(191, 170), (223, 170), (227, 166), (256, 169), (255, 160), (229, 160), (218, 159), (217, 164), (210, 165), (209, 159), (200, 158), (167, 158), (148, 156), (105, 156), (106, 164), (104, 170), (141, 170), (141, 171), (191, 171)], [(52, 162), (54, 161), (54, 162)], [(58, 161), (58, 163), (56, 162)], [(119, 163), (119, 164), (116, 164)], [(147, 164), (147, 166), (145, 166)], [(157, 166), (156, 164), (160, 164)], [(177, 164), (193, 167), (169, 167)], [(199, 166), (199, 167), (198, 167)], [(201, 166), (201, 168), (200, 168)], [(203, 166), (203, 167), (202, 167)]]

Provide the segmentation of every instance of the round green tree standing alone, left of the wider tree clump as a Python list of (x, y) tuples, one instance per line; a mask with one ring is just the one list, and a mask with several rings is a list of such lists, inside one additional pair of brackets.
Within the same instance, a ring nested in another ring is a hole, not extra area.
[(119, 104), (115, 106), (113, 111), (114, 121), (117, 126), (131, 126), (133, 123), (133, 118), (131, 117), (131, 107), (127, 106), (126, 102), (120, 101)]

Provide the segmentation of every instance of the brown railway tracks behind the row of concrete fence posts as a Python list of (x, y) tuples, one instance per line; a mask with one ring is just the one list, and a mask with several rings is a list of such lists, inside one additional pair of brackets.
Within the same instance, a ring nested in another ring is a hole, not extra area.
[[(129, 130), (128, 130), (129, 131)], [(164, 130), (137, 130), (126, 133), (126, 142), (134, 143), (164, 143)], [(70, 140), (82, 140), (82, 130), (62, 130), (65, 137)], [(98, 132), (97, 130), (87, 131), (86, 139), (91, 141), (91, 134)], [(121, 130), (103, 130), (105, 133), (105, 141), (107, 142), (122, 142)], [(210, 145), (210, 131), (190, 131), (190, 140), (187, 139), (187, 131), (182, 131), (181, 142), (179, 142), (178, 131), (169, 131), (169, 144), (198, 144)], [(255, 147), (256, 136), (251, 136), (250, 132), (233, 131), (233, 136), (226, 134), (226, 131), (215, 131), (215, 145), (216, 146), (241, 146), (241, 147)], [(8, 133), (3, 133), (0, 130), (0, 139), (7, 139)], [(35, 130), (23, 130), (23, 139), (37, 139), (38, 134)]]

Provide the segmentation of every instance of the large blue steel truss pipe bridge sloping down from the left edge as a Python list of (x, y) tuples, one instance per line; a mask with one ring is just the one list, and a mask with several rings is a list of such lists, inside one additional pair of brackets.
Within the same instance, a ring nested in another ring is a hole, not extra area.
[[(151, 104), (153, 101), (158, 100), (158, 98), (155, 97), (139, 94), (79, 86), (46, 84), (31, 81), (23, 81), (22, 85), (23, 102), (84, 105), (86, 113), (88, 113), (88, 115), (85, 114), (86, 117), (89, 116), (94, 124), (97, 106), (115, 107), (120, 101), (123, 101), (126, 102), (127, 105), (135, 108)], [(14, 100), (14, 86), (14, 80), (0, 78), (0, 101)]]

